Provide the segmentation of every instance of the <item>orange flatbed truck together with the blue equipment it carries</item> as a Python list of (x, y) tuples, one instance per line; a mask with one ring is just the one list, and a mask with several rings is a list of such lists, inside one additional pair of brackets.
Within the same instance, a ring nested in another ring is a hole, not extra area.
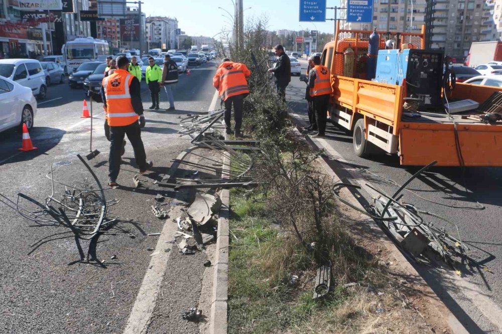
[[(441, 76), (440, 86), (431, 88), (439, 96), (439, 103), (427, 106), (427, 97), (411, 94), (417, 89), (412, 82), (430, 88), (427, 76), (432, 75), (431, 60), (439, 60), (434, 56), (437, 51), (423, 50), (425, 27), (421, 34), (378, 32), (380, 50), (374, 63), (385, 65), (393, 56), (395, 60), (394, 67), (379, 71), (377, 66), (375, 78), (370, 78), (367, 66), (371, 33), (343, 30), (337, 22), (335, 40), (324, 46), (321, 56), (321, 63), (330, 71), (332, 88), (328, 116), (332, 123), (352, 133), (356, 155), (397, 154), (403, 165), (426, 165), (436, 160), (442, 166), (502, 166), (502, 146), (497, 144), (502, 140), (502, 119), (497, 119), (502, 107), (493, 106), (494, 99), (502, 98), (502, 88), (444, 85), (448, 75), (443, 75), (446, 67), (441, 65), (441, 73), (435, 72), (436, 79)], [(386, 43), (388, 40), (394, 42)], [(386, 49), (387, 44), (401, 46), (401, 50)], [(410, 56), (414, 54), (429, 57), (429, 61), (422, 57), (415, 64)], [(413, 61), (410, 68), (418, 71), (401, 68), (396, 76), (386, 77), (405, 61)], [(435, 66), (439, 68), (439, 64)], [(382, 74), (380, 79), (378, 73)], [(402, 79), (397, 80), (399, 75)], [(458, 103), (471, 108), (453, 114)]]

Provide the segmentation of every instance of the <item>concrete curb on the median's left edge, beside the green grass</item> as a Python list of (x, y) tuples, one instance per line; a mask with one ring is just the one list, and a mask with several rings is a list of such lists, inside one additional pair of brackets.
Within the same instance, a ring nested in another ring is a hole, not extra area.
[[(228, 157), (223, 159), (223, 171), (230, 171), (230, 159)], [(220, 193), (220, 198), (221, 209), (219, 212), (216, 252), (213, 263), (213, 294), (211, 297), (211, 315), (209, 319), (210, 334), (226, 334), (227, 332), (230, 191), (223, 189)]]

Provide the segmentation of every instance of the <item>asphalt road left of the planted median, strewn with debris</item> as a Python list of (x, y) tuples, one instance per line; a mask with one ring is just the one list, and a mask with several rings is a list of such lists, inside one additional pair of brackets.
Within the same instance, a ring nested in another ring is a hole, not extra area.
[[(212, 76), (215, 63), (192, 69), (191, 75), (180, 76), (175, 87), (175, 111), (146, 110), (147, 125), (142, 138), (147, 159), (154, 160), (152, 173), (165, 173), (171, 159), (190, 146), (176, 132), (179, 116), (206, 112), (214, 95)], [(150, 106), (146, 83), (142, 82), (144, 107)], [(56, 180), (74, 184), (90, 179), (76, 154), (89, 152), (90, 119), (82, 119), (82, 89), (70, 89), (67, 84), (53, 85), (47, 99), (40, 101), (35, 127), (30, 135), (38, 147), (31, 152), (19, 152), (21, 133), (9, 130), (0, 133), (1, 193), (15, 200), (23, 192), (39, 201), (50, 195), (51, 184), (45, 177), (51, 165), (57, 171)], [(161, 92), (161, 106), (169, 107)], [(90, 107), (90, 105), (89, 105)], [(90, 161), (100, 182), (106, 183), (109, 143), (104, 137), (103, 112), (93, 103), (93, 149), (101, 153)], [(64, 228), (34, 226), (15, 211), (0, 204), (0, 332), (2, 333), (121, 333), (126, 327), (145, 274), (150, 269), (150, 256), (159, 237), (148, 233), (163, 231), (166, 224), (153, 216), (150, 205), (158, 192), (138, 190), (132, 177), (137, 174), (130, 143), (122, 158), (117, 182), (123, 187), (107, 190), (107, 200), (120, 202), (110, 208), (111, 217), (121, 222), (100, 237), (97, 258), (104, 261), (80, 263), (75, 242)], [(168, 207), (166, 207), (168, 208)], [(174, 217), (176, 218), (176, 217)], [(125, 221), (125, 222), (124, 222)], [(126, 233), (122, 233), (127, 231)], [(130, 233), (135, 236), (132, 238)], [(84, 251), (88, 244), (82, 243)], [(176, 246), (175, 246), (176, 247)], [(167, 251), (166, 251), (167, 252)], [(171, 300), (168, 309), (154, 305), (150, 333), (197, 333), (198, 325), (181, 320), (181, 311), (196, 306), (200, 295), (201, 263), (206, 256), (180, 258), (175, 252), (166, 256), (162, 276), (162, 300)], [(167, 253), (165, 253), (167, 254)], [(112, 259), (112, 257), (116, 257)], [(162, 262), (162, 261), (160, 261)], [(190, 283), (179, 275), (191, 275)], [(178, 283), (177, 283), (178, 282)], [(181, 284), (182, 283), (182, 284)], [(188, 288), (187, 288), (188, 286)]]

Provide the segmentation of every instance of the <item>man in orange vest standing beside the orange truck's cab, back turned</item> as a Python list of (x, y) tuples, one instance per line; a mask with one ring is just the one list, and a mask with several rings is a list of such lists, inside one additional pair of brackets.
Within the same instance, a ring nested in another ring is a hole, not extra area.
[(312, 97), (317, 122), (317, 134), (315, 137), (324, 137), (329, 95), (332, 91), (331, 82), (328, 68), (321, 65), (321, 57), (314, 56), (312, 57), (312, 61), (314, 63), (314, 68), (309, 72), (307, 86), (310, 88), (310, 97)]

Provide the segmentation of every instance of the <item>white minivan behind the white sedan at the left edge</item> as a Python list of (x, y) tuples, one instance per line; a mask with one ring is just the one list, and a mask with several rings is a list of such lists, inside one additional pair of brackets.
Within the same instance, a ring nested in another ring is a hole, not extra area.
[(0, 76), (16, 81), (21, 86), (31, 88), (39, 99), (47, 96), (45, 72), (40, 62), (35, 59), (2, 59)]

